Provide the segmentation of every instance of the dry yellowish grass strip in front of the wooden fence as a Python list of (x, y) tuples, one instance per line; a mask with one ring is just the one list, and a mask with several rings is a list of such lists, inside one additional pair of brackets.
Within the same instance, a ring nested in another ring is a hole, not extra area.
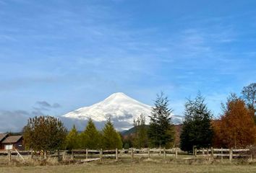
[(155, 162), (140, 162), (140, 163), (103, 163), (103, 164), (72, 164), (72, 165), (59, 165), (59, 166), (41, 166), (41, 167), (0, 167), (1, 173), (11, 172), (56, 172), (56, 173), (70, 173), (70, 172), (99, 172), (99, 173), (133, 173), (133, 172), (256, 172), (255, 165), (234, 165), (234, 164), (166, 164)]

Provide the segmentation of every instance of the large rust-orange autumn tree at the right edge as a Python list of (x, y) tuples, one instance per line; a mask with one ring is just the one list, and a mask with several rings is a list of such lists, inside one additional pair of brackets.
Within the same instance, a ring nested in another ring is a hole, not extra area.
[(244, 148), (255, 143), (255, 123), (252, 111), (236, 94), (223, 105), (221, 120), (213, 122), (216, 146)]

